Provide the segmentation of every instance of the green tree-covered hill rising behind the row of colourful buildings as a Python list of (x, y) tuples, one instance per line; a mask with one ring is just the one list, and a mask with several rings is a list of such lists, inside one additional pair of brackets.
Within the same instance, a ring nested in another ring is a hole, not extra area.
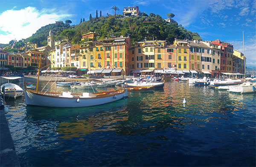
[[(61, 35), (64, 30), (74, 30), (77, 33), (86, 34), (88, 32), (96, 32), (99, 34), (99, 39), (105, 39), (105, 37), (111, 38), (113, 36), (131, 37), (131, 43), (143, 40), (166, 40), (167, 43), (172, 44), (177, 39), (188, 40), (201, 40), (200, 35), (197, 32), (190, 32), (184, 29), (183, 26), (178, 23), (167, 23), (163, 18), (157, 14), (150, 13), (149, 15), (143, 13), (143, 16), (135, 17), (122, 17), (121, 14), (108, 16), (102, 16), (98, 18), (90, 17), (90, 20), (83, 21), (78, 25), (70, 26), (72, 21), (66, 20), (66, 23), (61, 25), (49, 24), (43, 26), (31, 37), (25, 40), (26, 42), (38, 43), (38, 46), (47, 45), (47, 37), (49, 31), (52, 30), (55, 40), (61, 40), (67, 38), (67, 36)], [(74, 34), (74, 35), (75, 35)], [(77, 39), (77, 38), (76, 38)], [(10, 41), (13, 43), (13, 41)], [(77, 43), (75, 37), (71, 40), (71, 43)], [(8, 52), (15, 52), (20, 46), (24, 46), (24, 43), (18, 41), (15, 43), (14, 49), (8, 49)], [(16, 50), (15, 50), (16, 49)], [(21, 52), (21, 50), (19, 50)]]

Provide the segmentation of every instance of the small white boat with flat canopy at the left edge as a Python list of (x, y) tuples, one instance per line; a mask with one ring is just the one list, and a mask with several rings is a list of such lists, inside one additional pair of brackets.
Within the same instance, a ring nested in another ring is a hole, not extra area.
[(2, 92), (3, 86), (5, 86), (4, 95), (6, 97), (17, 98), (23, 94), (23, 89), (20, 86), (14, 84), (14, 83), (9, 83), (9, 80), (20, 79), (21, 77), (1, 77), (1, 78), (5, 78), (8, 80), (8, 83), (4, 83), (0, 87), (2, 95), (3, 95), (3, 92)]

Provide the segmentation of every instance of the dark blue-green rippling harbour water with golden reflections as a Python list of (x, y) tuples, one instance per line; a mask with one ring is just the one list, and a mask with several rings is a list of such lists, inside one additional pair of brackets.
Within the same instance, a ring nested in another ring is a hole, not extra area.
[(128, 96), (65, 109), (7, 101), (20, 165), (256, 166), (256, 94), (166, 81)]

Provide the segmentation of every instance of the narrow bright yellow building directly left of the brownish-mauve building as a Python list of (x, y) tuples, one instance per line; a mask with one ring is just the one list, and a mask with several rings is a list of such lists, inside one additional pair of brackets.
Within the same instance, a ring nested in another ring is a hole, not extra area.
[[(189, 70), (189, 45), (187, 40), (175, 40), (177, 48), (177, 70)], [(200, 66), (198, 66), (200, 69)]]

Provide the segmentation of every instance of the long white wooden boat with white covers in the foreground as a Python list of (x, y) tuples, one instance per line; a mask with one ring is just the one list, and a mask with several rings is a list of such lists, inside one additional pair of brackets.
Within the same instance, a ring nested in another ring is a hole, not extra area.
[(78, 93), (70, 92), (39, 92), (34, 90), (25, 90), (25, 99), (27, 105), (43, 106), (43, 107), (90, 107), (101, 104), (118, 101), (128, 97), (127, 89), (119, 89), (113, 92), (99, 93)]

